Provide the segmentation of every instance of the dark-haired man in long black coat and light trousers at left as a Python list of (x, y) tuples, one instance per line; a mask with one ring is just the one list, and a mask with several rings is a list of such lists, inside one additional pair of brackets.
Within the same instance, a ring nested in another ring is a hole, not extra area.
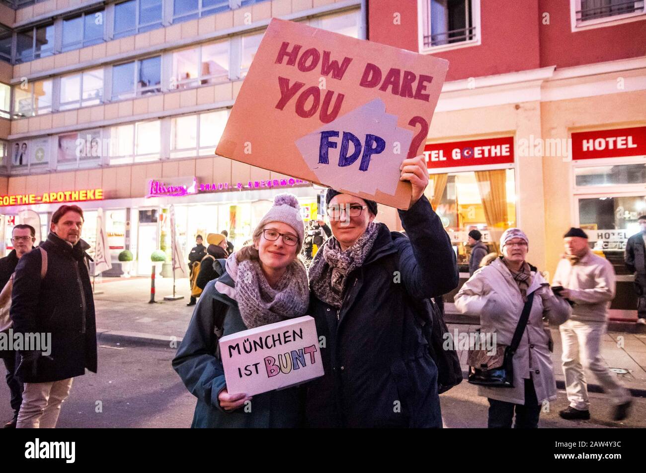
[(61, 205), (52, 215), (51, 231), (41, 251), (27, 253), (16, 266), (10, 310), (14, 333), (51, 334), (50, 355), (29, 348), (20, 351), (17, 375), (25, 391), (18, 428), (54, 428), (72, 379), (85, 374), (85, 368), (97, 370), (94, 298), (86, 253), (90, 246), (81, 240), (81, 227), (83, 210)]

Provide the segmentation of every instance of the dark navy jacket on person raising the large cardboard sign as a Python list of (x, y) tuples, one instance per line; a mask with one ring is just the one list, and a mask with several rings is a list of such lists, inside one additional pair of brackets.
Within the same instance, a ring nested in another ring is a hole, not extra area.
[[(406, 234), (381, 224), (339, 311), (311, 294), (325, 375), (306, 384), (311, 427), (439, 427), (437, 368), (412, 298), (450, 292), (451, 241), (426, 197), (399, 211)], [(322, 338), (321, 338), (322, 337)]]

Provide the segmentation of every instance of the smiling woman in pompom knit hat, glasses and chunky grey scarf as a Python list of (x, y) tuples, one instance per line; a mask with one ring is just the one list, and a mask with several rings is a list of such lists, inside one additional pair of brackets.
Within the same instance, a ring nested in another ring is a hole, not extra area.
[[(298, 388), (248, 397), (229, 393), (218, 338), (305, 315), (307, 271), (298, 259), (305, 226), (293, 194), (279, 194), (253, 231), (253, 244), (225, 262), (209, 282), (172, 367), (197, 397), (193, 427), (296, 427), (301, 423)], [(247, 408), (249, 407), (249, 408)]]

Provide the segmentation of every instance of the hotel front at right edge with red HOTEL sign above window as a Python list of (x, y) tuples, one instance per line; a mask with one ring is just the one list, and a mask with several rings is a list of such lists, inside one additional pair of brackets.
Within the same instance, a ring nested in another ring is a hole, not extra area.
[(616, 311), (632, 310), (632, 274), (623, 264), (628, 238), (646, 214), (646, 126), (572, 132), (572, 215), (590, 246), (617, 274)]

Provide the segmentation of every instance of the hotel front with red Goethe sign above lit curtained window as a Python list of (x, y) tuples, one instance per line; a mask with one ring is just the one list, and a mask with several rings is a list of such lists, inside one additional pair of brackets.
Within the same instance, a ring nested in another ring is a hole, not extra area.
[(514, 137), (428, 143), (426, 196), (451, 237), (461, 277), (468, 277), (469, 231), (477, 229), (490, 251), (516, 226)]

